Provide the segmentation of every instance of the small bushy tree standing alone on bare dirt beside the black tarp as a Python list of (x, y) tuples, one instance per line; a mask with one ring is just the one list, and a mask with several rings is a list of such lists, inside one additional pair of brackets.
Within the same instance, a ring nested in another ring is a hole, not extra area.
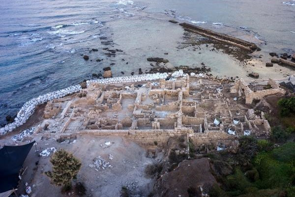
[(72, 179), (76, 178), (81, 168), (81, 162), (72, 153), (63, 149), (55, 152), (50, 162), (53, 165), (52, 171), (47, 171), (45, 174), (51, 178), (52, 183), (63, 186), (64, 190), (69, 190)]

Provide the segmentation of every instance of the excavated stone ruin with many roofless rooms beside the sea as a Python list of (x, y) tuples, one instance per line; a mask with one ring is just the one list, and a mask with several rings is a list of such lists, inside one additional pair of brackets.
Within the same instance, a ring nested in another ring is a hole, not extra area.
[(243, 79), (233, 84), (194, 73), (145, 82), (92, 82), (78, 93), (48, 101), (34, 135), (114, 135), (147, 148), (186, 135), (196, 146), (224, 149), (242, 135), (268, 135), (263, 112), (247, 105), (284, 93), (273, 80), (268, 83), (271, 88), (252, 91)]

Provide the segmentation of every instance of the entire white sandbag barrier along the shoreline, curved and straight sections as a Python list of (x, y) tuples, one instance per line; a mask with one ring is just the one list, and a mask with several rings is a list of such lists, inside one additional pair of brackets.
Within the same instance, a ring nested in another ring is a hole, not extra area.
[[(179, 77), (183, 75), (183, 71), (179, 70), (172, 74), (174, 77)], [(142, 74), (134, 76), (121, 76), (107, 79), (97, 79), (97, 80), (87, 80), (87, 86), (91, 83), (101, 83), (101, 84), (115, 84), (115, 83), (126, 83), (126, 82), (139, 82), (139, 81), (152, 81), (157, 79), (166, 79), (168, 74), (165, 73), (155, 73), (155, 74)], [(66, 95), (78, 93), (82, 90), (81, 85), (70, 86), (65, 89), (57, 90), (54, 92), (47, 93), (45, 95), (40, 95), (36, 98), (30, 99), (25, 102), (20, 111), (17, 113), (14, 122), (5, 125), (0, 128), (0, 135), (4, 135), (7, 132), (11, 132), (17, 127), (25, 124), (29, 117), (34, 113), (37, 105), (48, 102), (53, 99), (59, 99), (65, 97)]]

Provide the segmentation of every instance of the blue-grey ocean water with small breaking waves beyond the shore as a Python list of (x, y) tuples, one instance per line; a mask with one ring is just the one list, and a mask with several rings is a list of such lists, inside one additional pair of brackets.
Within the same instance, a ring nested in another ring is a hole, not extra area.
[[(173, 66), (207, 61), (217, 74), (243, 73), (226, 55), (178, 50), (183, 30), (167, 22), (173, 18), (253, 41), (265, 53), (295, 51), (294, 0), (4, 0), (0, 10), (0, 124), (26, 100), (111, 63), (114, 76), (149, 69), (147, 57), (165, 57)], [(107, 57), (104, 47), (122, 52)]]

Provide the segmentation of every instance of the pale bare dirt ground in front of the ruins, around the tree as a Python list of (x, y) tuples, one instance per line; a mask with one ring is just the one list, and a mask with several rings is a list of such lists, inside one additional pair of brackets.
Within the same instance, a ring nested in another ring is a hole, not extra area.
[[(73, 139), (62, 143), (52, 138), (36, 141), (36, 147), (32, 147), (24, 163), (24, 167), (28, 166), (28, 169), (23, 176), (24, 182), (20, 183), (19, 195), (25, 193), (23, 184), (28, 182), (32, 187), (30, 197), (78, 196), (74, 192), (61, 194), (61, 188), (51, 184), (50, 179), (44, 174), (45, 171), (51, 170), (52, 153), (46, 158), (38, 156), (38, 153), (41, 149), (50, 147), (65, 149), (80, 159), (82, 167), (77, 180), (74, 180), (72, 185), (76, 182), (83, 182), (87, 189), (85, 195), (87, 197), (119, 197), (122, 187), (131, 188), (130, 194), (132, 195), (146, 197), (153, 189), (154, 182), (145, 175), (145, 168), (155, 160), (146, 157), (146, 149), (122, 137), (85, 135), (78, 136), (75, 143), (71, 143)], [(101, 147), (100, 144), (106, 141), (110, 141), (111, 146)], [(109, 159), (110, 154), (113, 160)], [(89, 164), (93, 164), (93, 159), (98, 156), (109, 162), (112, 167), (99, 170), (89, 167)]]

